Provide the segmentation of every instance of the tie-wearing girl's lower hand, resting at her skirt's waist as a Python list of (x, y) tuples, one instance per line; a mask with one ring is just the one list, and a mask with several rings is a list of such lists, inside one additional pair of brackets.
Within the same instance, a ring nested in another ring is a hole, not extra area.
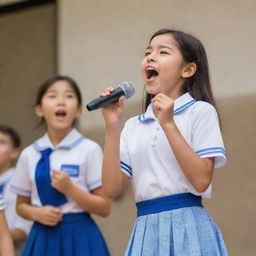
[(36, 208), (35, 219), (43, 225), (55, 226), (62, 220), (62, 213), (58, 207), (46, 205)]

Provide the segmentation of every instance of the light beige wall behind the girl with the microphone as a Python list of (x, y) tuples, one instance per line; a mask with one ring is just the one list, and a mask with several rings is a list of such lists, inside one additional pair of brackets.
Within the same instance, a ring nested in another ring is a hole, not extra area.
[[(220, 225), (232, 256), (256, 251), (255, 152), (256, 59), (254, 0), (60, 0), (61, 73), (73, 76), (85, 104), (106, 86), (131, 81), (136, 95), (127, 116), (141, 110), (139, 66), (152, 33), (171, 27), (193, 33), (209, 57), (213, 89), (222, 114), (228, 164), (216, 170), (207, 209)], [(81, 129), (103, 143), (100, 111), (85, 111)], [(113, 255), (122, 255), (135, 210), (130, 189), (113, 203), (106, 220), (97, 219)]]

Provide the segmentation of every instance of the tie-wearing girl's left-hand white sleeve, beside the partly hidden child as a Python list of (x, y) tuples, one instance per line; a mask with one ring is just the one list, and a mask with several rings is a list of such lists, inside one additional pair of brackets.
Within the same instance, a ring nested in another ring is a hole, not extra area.
[(11, 191), (21, 196), (31, 196), (31, 182), (29, 180), (29, 166), (26, 153), (23, 151), (18, 159), (10, 185)]

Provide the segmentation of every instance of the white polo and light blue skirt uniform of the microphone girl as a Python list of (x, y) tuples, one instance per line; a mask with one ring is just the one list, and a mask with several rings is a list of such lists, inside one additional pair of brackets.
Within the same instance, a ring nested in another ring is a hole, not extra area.
[[(194, 152), (213, 157), (226, 153), (214, 107), (189, 93), (175, 100), (174, 121)], [(133, 187), (137, 219), (126, 256), (226, 256), (221, 232), (203, 208), (210, 185), (197, 192), (184, 175), (155, 117), (152, 105), (129, 119), (121, 133), (121, 170)]]

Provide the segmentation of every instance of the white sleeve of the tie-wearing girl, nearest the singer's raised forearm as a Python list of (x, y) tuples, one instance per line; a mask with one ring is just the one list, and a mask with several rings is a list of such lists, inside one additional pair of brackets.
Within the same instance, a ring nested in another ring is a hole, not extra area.
[(89, 191), (101, 186), (102, 176), (102, 149), (96, 143), (93, 144), (87, 155), (87, 187)]

